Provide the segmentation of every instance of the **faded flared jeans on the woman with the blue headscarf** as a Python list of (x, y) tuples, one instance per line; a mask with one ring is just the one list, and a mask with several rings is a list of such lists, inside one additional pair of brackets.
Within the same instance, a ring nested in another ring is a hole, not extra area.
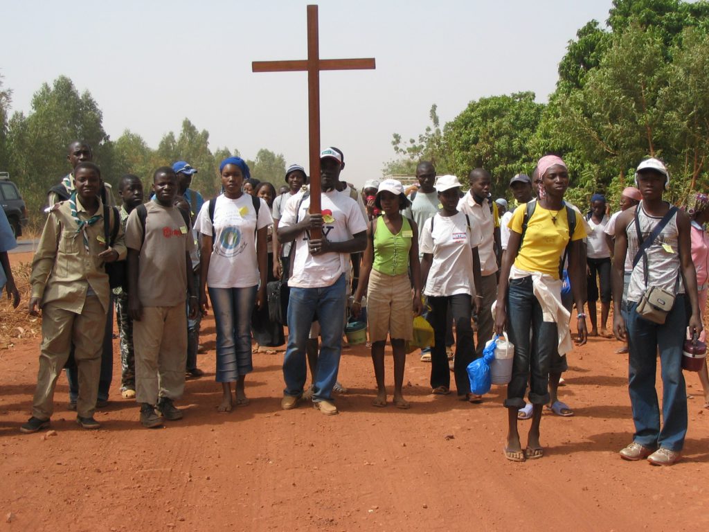
[(257, 287), (209, 288), (217, 331), (216, 382), (236, 382), (254, 370), (251, 313)]

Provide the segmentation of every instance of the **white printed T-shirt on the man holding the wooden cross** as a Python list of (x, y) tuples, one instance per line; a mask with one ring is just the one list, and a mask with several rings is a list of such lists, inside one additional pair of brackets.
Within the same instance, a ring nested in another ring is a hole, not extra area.
[[(310, 200), (309, 193), (304, 198), (303, 192), (291, 196), (281, 212), (279, 228), (294, 226), (302, 221), (310, 209)], [(362, 216), (357, 201), (342, 192), (331, 190), (320, 194), (320, 209), (323, 212), (323, 237), (330, 242), (345, 242), (353, 235), (367, 231), (367, 218)], [(310, 231), (303, 231), (294, 240), (296, 251), (291, 277), (288, 279), (289, 287), (329, 287), (349, 269), (349, 253), (311, 255), (308, 249), (309, 238)]]

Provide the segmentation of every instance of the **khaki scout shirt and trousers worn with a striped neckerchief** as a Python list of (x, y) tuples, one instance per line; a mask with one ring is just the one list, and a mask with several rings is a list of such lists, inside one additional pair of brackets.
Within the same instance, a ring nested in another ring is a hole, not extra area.
[[(57, 376), (69, 358), (72, 344), (79, 370), (77, 414), (91, 417), (96, 409), (101, 347), (110, 304), (108, 275), (104, 262), (98, 258), (106, 250), (104, 206), (100, 199), (95, 214), (101, 219), (86, 227), (87, 253), (69, 201), (52, 209), (32, 261), (31, 297), (40, 298), (43, 316), (40, 367), (32, 409), (32, 415), (38, 419), (52, 416)], [(81, 220), (91, 218), (78, 197), (77, 216)], [(116, 219), (114, 223), (120, 222)], [(125, 258), (120, 226), (113, 249), (119, 259)]]

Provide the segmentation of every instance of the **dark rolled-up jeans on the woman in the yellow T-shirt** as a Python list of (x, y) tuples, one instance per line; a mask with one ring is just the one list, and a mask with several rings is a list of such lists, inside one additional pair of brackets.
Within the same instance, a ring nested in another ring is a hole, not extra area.
[[(530, 328), (532, 340), (530, 341)], [(512, 379), (507, 386), (505, 406), (525, 406), (527, 377), (532, 404), (549, 402), (549, 362), (559, 352), (557, 324), (544, 321), (542, 306), (532, 292), (532, 277), (510, 279), (507, 293), (507, 334), (515, 345)]]

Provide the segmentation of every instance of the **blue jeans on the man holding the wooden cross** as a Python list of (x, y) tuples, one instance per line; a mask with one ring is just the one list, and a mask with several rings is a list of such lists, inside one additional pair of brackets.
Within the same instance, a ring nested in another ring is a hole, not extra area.
[(345, 275), (329, 287), (291, 287), (288, 302), (288, 348), (283, 360), (285, 395), (300, 397), (306, 384), (306, 343), (316, 311), (320, 321), (320, 355), (313, 376), (313, 401), (331, 399), (342, 348), (342, 316), (347, 292)]

